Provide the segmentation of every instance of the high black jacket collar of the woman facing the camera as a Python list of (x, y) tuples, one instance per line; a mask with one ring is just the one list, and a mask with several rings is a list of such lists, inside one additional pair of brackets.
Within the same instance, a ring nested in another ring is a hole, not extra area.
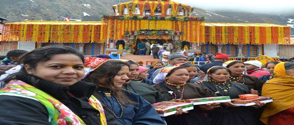
[(17, 75), (16, 79), (30, 84), (43, 92), (48, 93), (57, 100), (68, 100), (69, 93), (76, 98), (86, 97), (89, 99), (96, 89), (96, 85), (87, 82), (77, 82), (71, 86), (48, 82), (34, 75), (22, 74)]

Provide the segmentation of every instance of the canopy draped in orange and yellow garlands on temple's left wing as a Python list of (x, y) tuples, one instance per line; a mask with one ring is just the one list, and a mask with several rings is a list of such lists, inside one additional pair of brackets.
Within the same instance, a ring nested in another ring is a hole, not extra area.
[(23, 21), (4, 24), (2, 41), (88, 43), (105, 41), (103, 22)]

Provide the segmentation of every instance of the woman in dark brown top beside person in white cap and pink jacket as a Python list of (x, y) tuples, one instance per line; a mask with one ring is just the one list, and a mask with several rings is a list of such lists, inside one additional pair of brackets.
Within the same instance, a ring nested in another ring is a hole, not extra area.
[(246, 75), (246, 67), (243, 62), (231, 60), (225, 62), (223, 66), (232, 71), (229, 78), (231, 82), (245, 84), (250, 89), (251, 94), (261, 95), (261, 88), (264, 82), (257, 77)]

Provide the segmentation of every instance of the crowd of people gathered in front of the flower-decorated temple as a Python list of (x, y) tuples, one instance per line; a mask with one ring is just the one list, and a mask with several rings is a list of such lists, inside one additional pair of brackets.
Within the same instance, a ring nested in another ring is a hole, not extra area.
[[(143, 43), (142, 43), (143, 44)], [(170, 52), (169, 44), (160, 51)], [(158, 47), (160, 48), (160, 47)], [(138, 49), (141, 49), (138, 47)], [(144, 50), (144, 49), (143, 49)], [(141, 50), (140, 50), (141, 51)], [(144, 52), (141, 51), (141, 54)], [(149, 53), (148, 53), (149, 54)], [(291, 125), (294, 63), (241, 62), (217, 53), (170, 53), (168, 65), (139, 66), (106, 55), (84, 57), (67, 46), (13, 50), (0, 65), (1, 124), (13, 125)], [(161, 56), (164, 57), (163, 55)], [(201, 66), (190, 62), (211, 62)], [(272, 103), (194, 105), (160, 117), (163, 101), (241, 94), (270, 96)]]

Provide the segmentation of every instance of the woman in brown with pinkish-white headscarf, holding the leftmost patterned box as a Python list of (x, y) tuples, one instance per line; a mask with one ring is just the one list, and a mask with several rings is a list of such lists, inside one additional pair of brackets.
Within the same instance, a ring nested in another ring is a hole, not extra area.
[[(212, 91), (202, 85), (186, 83), (189, 79), (189, 73), (184, 67), (163, 68), (155, 79), (160, 83), (152, 87), (165, 95), (168, 100), (204, 98), (214, 95)], [(204, 112), (220, 107), (218, 105), (219, 103), (195, 105), (189, 113), (166, 117), (165, 121), (168, 125), (210, 125), (211, 119), (205, 116)]]

